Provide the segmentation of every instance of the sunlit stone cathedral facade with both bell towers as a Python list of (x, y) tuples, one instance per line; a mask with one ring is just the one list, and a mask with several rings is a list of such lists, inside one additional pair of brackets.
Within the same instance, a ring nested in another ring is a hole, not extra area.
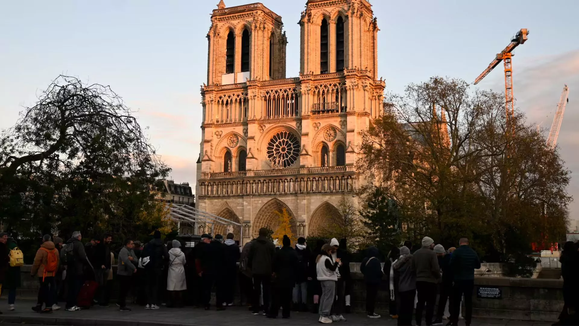
[(370, 3), (308, 0), (299, 25), (299, 77), (285, 78), (280, 16), (223, 1), (211, 16), (196, 205), (242, 224), (243, 243), (283, 209), (308, 236), (343, 198), (357, 204), (360, 132), (382, 112)]

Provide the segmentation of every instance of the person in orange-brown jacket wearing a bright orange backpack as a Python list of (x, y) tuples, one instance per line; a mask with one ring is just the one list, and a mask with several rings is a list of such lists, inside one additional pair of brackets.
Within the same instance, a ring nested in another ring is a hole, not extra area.
[[(50, 234), (42, 237), (42, 245), (36, 251), (34, 264), (30, 274), (32, 277), (37, 276), (40, 282), (38, 298), (40, 306), (32, 307), (32, 310), (39, 313), (52, 313), (60, 307), (56, 305), (56, 282), (54, 276), (58, 271), (58, 251), (54, 242), (50, 241)], [(42, 309), (42, 303), (45, 303), (45, 309)]]

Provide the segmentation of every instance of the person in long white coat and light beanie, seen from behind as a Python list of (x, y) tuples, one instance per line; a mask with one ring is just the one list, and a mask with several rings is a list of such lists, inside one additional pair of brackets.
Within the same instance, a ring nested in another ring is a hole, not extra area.
[(169, 270), (167, 273), (167, 291), (170, 293), (171, 304), (167, 307), (182, 307), (182, 291), (187, 289), (185, 278), (185, 254), (181, 251), (181, 242), (173, 240), (173, 248), (169, 250)]

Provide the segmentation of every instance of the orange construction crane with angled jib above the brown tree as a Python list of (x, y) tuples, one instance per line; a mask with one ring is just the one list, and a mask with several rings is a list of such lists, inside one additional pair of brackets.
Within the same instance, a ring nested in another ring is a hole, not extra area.
[(485, 78), (486, 75), (493, 70), (494, 67), (498, 66), (501, 61), (504, 61), (505, 66), (505, 100), (507, 103), (507, 121), (508, 117), (510, 117), (515, 112), (515, 103), (514, 103), (514, 96), (512, 92), (512, 66), (511, 66), (511, 57), (514, 56), (511, 52), (514, 50), (519, 44), (525, 43), (527, 40), (527, 35), (529, 35), (529, 30), (526, 28), (522, 28), (520, 31), (516, 33), (514, 37), (511, 38), (511, 43), (507, 45), (507, 47), (501, 51), (497, 55), (497, 57), (489, 64), (489, 66), (482, 72), (477, 79), (475, 79), (474, 84), (478, 84), (482, 78)]

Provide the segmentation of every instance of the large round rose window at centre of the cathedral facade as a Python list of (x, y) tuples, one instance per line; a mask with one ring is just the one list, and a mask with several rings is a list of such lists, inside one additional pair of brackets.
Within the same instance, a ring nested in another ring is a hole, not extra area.
[(276, 168), (287, 168), (298, 160), (299, 140), (289, 131), (280, 131), (267, 143), (267, 159)]

